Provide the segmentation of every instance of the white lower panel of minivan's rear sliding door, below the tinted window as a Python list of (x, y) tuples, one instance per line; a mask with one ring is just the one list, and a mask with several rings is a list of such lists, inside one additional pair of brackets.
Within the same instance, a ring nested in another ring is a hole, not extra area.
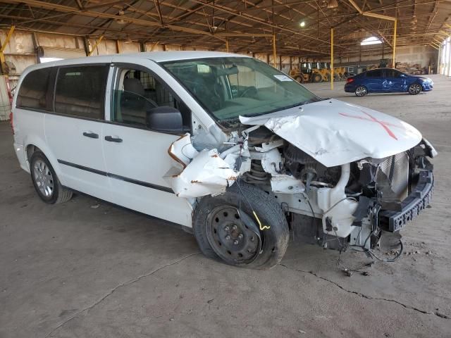
[(101, 149), (102, 124), (54, 114), (46, 114), (44, 120), (47, 144), (58, 160), (63, 182), (85, 194), (107, 199), (110, 190)]

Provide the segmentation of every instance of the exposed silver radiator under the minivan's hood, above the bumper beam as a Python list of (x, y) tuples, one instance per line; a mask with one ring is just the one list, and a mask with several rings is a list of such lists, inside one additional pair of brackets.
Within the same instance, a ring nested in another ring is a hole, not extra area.
[(397, 194), (401, 201), (405, 199), (409, 185), (409, 156), (407, 152), (404, 151), (383, 161), (381, 170), (391, 181), (393, 192)]

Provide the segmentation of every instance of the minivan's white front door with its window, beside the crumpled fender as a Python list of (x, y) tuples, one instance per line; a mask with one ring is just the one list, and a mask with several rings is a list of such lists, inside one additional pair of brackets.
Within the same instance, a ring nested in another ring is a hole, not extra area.
[(149, 111), (170, 106), (181, 111), (188, 132), (190, 111), (147, 68), (116, 65), (113, 74), (110, 123), (102, 129), (111, 201), (191, 227), (191, 205), (175, 196), (163, 178), (173, 166), (168, 148), (183, 130), (155, 131), (147, 123)]

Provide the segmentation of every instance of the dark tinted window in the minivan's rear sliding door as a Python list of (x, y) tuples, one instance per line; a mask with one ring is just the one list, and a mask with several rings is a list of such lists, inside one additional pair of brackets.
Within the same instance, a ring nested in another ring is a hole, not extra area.
[(107, 65), (64, 67), (58, 70), (55, 112), (104, 119)]

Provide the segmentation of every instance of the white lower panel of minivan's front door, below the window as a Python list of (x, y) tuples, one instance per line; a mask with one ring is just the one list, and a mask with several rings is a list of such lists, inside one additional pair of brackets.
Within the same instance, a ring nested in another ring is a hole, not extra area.
[[(102, 139), (111, 200), (126, 208), (191, 227), (192, 206), (172, 192), (163, 176), (173, 165), (168, 155), (177, 135), (105, 123)], [(108, 142), (105, 137), (122, 139)]]

